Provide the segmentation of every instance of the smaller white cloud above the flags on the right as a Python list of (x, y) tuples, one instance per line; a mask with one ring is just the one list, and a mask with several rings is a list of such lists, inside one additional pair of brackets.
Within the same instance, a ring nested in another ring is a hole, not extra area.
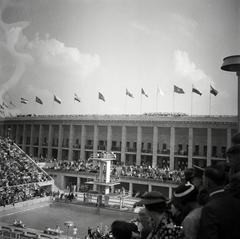
[(188, 77), (193, 82), (209, 78), (203, 70), (198, 69), (195, 63), (191, 62), (187, 52), (176, 50), (173, 57), (175, 72), (180, 77)]

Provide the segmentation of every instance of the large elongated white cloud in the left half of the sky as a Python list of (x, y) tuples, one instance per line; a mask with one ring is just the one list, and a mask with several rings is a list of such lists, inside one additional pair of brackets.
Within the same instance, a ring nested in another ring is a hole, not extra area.
[(67, 47), (63, 42), (50, 38), (48, 34), (44, 39), (36, 34), (33, 41), (28, 41), (25, 37), (18, 47), (32, 55), (37, 64), (60, 71), (67, 70), (71, 74), (87, 76), (100, 65), (98, 55), (83, 54), (77, 48)]

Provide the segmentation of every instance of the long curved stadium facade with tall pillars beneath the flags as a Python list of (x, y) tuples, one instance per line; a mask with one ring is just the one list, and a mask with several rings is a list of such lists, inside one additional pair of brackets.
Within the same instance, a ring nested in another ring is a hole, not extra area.
[(170, 170), (205, 167), (226, 160), (235, 116), (55, 115), (0, 119), (9, 136), (32, 157), (76, 161), (113, 151), (124, 164), (168, 166)]

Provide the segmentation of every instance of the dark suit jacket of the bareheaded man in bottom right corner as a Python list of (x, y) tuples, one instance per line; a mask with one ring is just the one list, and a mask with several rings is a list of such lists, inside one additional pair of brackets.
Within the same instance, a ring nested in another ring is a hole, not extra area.
[(202, 209), (202, 239), (240, 238), (240, 200), (219, 192), (212, 195)]

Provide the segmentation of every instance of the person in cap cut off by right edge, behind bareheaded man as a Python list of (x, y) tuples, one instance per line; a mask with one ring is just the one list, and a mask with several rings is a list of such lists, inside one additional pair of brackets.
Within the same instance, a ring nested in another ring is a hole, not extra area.
[(233, 197), (240, 199), (240, 144), (235, 144), (227, 150), (230, 165), (229, 184), (226, 191)]

